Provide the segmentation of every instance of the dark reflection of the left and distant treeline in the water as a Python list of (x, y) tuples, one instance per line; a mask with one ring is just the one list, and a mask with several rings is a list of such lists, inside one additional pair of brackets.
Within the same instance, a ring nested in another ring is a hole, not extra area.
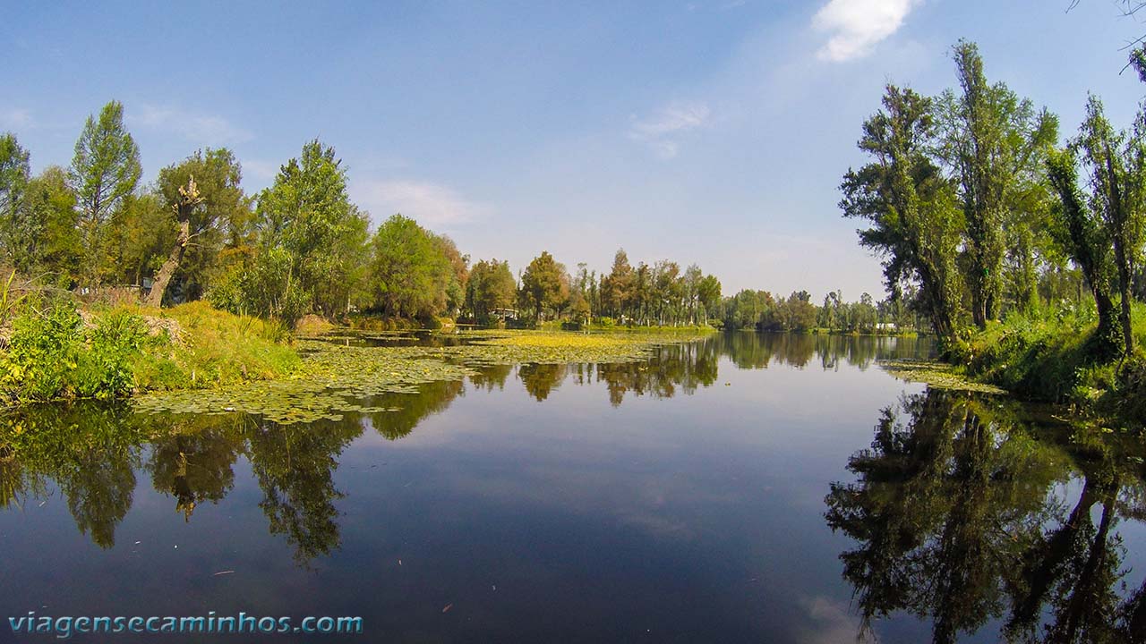
[[(432, 338), (368, 338), (363, 343), (435, 341)], [(269, 529), (305, 564), (339, 543), (333, 482), (338, 457), (367, 429), (398, 440), (427, 416), (445, 410), (466, 386), (504, 390), (512, 375), (529, 396), (547, 400), (563, 382), (604, 383), (609, 400), (692, 394), (719, 379), (728, 359), (740, 368), (769, 363), (806, 367), (819, 356), (825, 369), (841, 362), (866, 367), (880, 355), (913, 355), (926, 345), (910, 339), (729, 333), (662, 347), (641, 362), (621, 364), (521, 364), (487, 367), (468, 382), (424, 385), (417, 394), (386, 394), (363, 401), (384, 409), (345, 414), (342, 421), (278, 426), (242, 415), (154, 417), (126, 406), (44, 406), (10, 414), (0, 427), (0, 509), (23, 506), (58, 489), (80, 533), (101, 548), (116, 544), (116, 526), (132, 508), (136, 474), (150, 476), (155, 490), (173, 500), (190, 521), (195, 509), (218, 503), (235, 486), (235, 464), (250, 462), (262, 493), (259, 508)], [(55, 488), (53, 488), (53, 485)]]

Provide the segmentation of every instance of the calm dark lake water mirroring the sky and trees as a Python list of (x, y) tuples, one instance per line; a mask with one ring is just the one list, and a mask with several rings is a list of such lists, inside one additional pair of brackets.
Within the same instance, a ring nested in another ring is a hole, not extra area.
[[(361, 615), (359, 642), (1146, 637), (1141, 450), (876, 364), (927, 351), (736, 333), (487, 369), (337, 423), (9, 417), (42, 438), (23, 461), (0, 446), (0, 618)], [(5, 621), (0, 641), (55, 639)]]

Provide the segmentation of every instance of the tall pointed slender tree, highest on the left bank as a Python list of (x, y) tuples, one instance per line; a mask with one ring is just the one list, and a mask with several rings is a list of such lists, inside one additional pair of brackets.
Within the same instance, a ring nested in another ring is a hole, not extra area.
[(96, 285), (105, 269), (104, 234), (111, 213), (135, 191), (142, 167), (139, 147), (124, 127), (124, 105), (111, 101), (100, 117), (87, 117), (76, 141), (71, 184), (80, 211), (84, 278)]

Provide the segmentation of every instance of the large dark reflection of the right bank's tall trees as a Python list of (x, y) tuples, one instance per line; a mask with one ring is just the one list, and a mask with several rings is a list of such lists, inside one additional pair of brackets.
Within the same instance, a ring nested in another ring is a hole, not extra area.
[[(1140, 447), (1138, 447), (1140, 450)], [(855, 482), (831, 486), (827, 524), (861, 635), (906, 611), (955, 642), (991, 620), (1021, 642), (1141, 642), (1146, 588), (1114, 532), (1144, 518), (1140, 455), (1042, 424), (997, 399), (928, 391), (885, 409)]]

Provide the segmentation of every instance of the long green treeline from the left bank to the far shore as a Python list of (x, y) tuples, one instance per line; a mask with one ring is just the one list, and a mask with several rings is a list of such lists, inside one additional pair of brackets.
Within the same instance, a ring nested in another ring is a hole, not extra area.
[(244, 191), (228, 149), (198, 150), (151, 184), (142, 175), (119, 102), (88, 117), (69, 167), (32, 175), (29, 151), (14, 134), (0, 135), (0, 266), (91, 299), (206, 299), (289, 324), (311, 313), (851, 331), (892, 321), (890, 308), (877, 311), (868, 296), (845, 305), (835, 292), (818, 308), (804, 291), (722, 297), (720, 281), (694, 264), (633, 265), (623, 250), (607, 274), (584, 264), (570, 270), (548, 252), (517, 275), (504, 260), (471, 261), (449, 237), (401, 214), (371, 229), (350, 198), (346, 166), (319, 140), (257, 195)]

